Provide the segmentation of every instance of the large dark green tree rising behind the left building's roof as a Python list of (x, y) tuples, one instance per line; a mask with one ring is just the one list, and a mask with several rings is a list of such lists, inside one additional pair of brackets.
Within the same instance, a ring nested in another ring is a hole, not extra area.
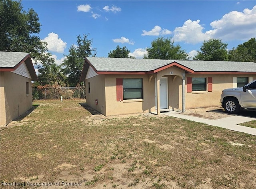
[(36, 35), (40, 32), (38, 14), (33, 9), (22, 10), (21, 1), (1, 0), (0, 5), (0, 50), (28, 52), (35, 61), (54, 62), (47, 53), (47, 43)]

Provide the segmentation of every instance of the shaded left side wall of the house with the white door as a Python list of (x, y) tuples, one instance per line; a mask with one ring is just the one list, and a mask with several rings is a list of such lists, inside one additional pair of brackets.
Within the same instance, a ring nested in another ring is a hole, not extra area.
[[(96, 75), (85, 80), (86, 86), (86, 103), (98, 112), (106, 115), (105, 100), (105, 75)], [(90, 94), (88, 93), (88, 83), (90, 83)], [(95, 103), (98, 99), (98, 104)]]

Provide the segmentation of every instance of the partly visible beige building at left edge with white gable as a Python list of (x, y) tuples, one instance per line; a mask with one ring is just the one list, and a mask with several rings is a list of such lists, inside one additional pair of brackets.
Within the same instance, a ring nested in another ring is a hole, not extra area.
[(29, 53), (0, 52), (0, 125), (32, 108), (31, 81), (37, 80)]

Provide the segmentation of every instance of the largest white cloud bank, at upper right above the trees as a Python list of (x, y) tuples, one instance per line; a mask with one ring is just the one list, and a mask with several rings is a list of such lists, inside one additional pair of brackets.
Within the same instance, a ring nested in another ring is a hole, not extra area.
[(247, 40), (255, 37), (256, 6), (252, 10), (246, 8), (243, 12), (232, 11), (225, 14), (220, 20), (210, 23), (212, 30), (203, 32), (200, 20), (187, 20), (182, 27), (174, 30), (174, 41), (185, 43), (199, 43), (210, 38), (228, 40)]

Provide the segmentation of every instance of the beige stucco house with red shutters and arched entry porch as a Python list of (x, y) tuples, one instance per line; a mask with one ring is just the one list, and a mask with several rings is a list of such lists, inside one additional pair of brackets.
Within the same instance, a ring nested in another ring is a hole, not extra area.
[(223, 89), (256, 79), (256, 63), (86, 57), (86, 102), (105, 116), (219, 106)]

